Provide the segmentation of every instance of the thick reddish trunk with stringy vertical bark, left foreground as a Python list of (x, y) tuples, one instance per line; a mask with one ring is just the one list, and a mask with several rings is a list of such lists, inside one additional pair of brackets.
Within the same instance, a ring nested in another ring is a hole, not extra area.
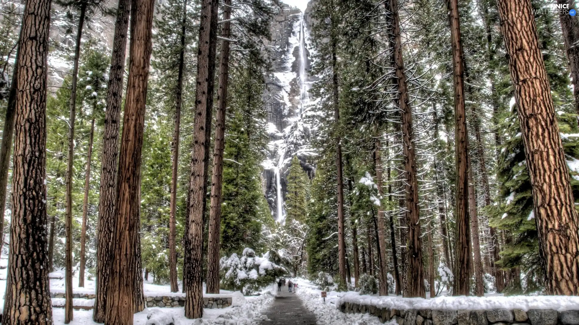
[(141, 150), (151, 58), (154, 0), (135, 0), (131, 9), (129, 79), (118, 168), (117, 225), (112, 232), (111, 273), (105, 323), (132, 325), (142, 300), (140, 256)]

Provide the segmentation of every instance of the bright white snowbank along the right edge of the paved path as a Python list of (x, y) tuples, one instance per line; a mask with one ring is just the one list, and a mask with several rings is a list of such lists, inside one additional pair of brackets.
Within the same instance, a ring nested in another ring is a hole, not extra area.
[[(303, 305), (313, 312), (318, 319), (318, 325), (378, 325), (382, 324), (378, 317), (361, 313), (343, 313), (338, 310), (340, 297), (335, 291), (328, 292), (325, 302), (321, 298), (321, 290), (317, 286), (303, 278), (291, 280), (298, 283), (298, 297), (302, 300)], [(386, 324), (395, 325), (395, 322), (386, 322)]]

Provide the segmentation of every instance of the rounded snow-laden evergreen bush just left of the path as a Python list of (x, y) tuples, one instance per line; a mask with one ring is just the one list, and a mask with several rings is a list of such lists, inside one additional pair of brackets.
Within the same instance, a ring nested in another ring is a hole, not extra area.
[(255, 293), (287, 273), (284, 267), (272, 261), (278, 257), (275, 252), (259, 257), (251, 248), (245, 248), (241, 258), (236, 253), (223, 257), (220, 261), (221, 285), (225, 289), (241, 290), (246, 296)]

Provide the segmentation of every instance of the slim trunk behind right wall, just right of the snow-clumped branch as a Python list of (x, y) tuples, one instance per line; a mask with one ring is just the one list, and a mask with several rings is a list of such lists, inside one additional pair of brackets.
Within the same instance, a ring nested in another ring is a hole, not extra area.
[[(382, 189), (382, 154), (380, 153), (380, 139), (376, 138), (374, 142), (374, 168), (376, 169), (376, 186), (378, 187), (379, 198), (384, 196)], [(388, 296), (388, 275), (386, 263), (386, 221), (384, 220), (384, 208), (382, 205), (378, 208), (378, 251), (380, 270), (378, 280), (380, 283), (379, 296)]]

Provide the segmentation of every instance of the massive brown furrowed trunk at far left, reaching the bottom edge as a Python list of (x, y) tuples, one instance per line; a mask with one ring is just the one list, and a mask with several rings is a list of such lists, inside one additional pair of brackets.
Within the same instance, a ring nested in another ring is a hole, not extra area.
[(46, 215), (50, 1), (25, 2), (14, 113), (12, 220), (2, 324), (51, 325)]

